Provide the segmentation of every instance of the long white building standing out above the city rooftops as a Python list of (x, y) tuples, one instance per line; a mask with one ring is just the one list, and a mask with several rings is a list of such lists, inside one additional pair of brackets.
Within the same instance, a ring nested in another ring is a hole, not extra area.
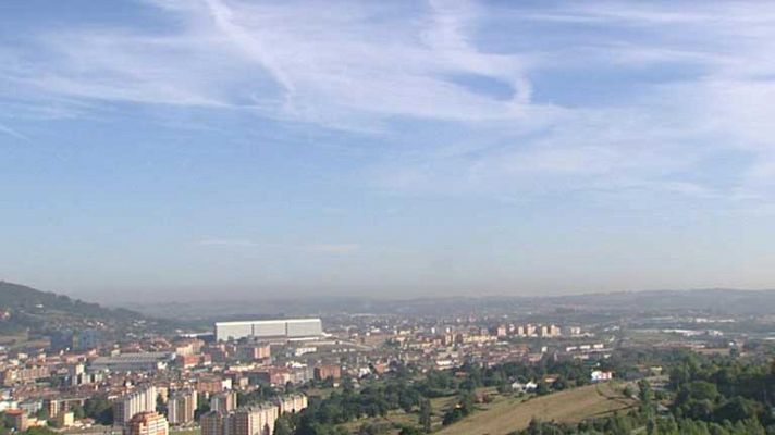
[(257, 320), (245, 322), (217, 322), (216, 339), (243, 337), (257, 338), (311, 338), (323, 334), (320, 319)]

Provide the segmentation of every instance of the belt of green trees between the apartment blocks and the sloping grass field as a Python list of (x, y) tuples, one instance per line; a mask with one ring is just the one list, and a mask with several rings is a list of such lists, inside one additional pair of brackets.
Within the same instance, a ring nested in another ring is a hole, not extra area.
[[(505, 393), (515, 380), (526, 382), (553, 374), (557, 381), (552, 385), (539, 383), (539, 388), (549, 393), (589, 383), (589, 366), (580, 361), (554, 361), (549, 358), (537, 364), (508, 362), (484, 369), (478, 364), (464, 364), (456, 371), (431, 371), (422, 375), (402, 365), (381, 380), (362, 383), (357, 390), (352, 381), (344, 380), (341, 391), (333, 391), (323, 399), (311, 398), (309, 408), (302, 413), (281, 419), (275, 432), (280, 435), (337, 435), (347, 433), (342, 432), (343, 423), (404, 410), (417, 415), (416, 425), (401, 428), (404, 435), (430, 433), (433, 415), (431, 398), (456, 398), (448, 409), (443, 410), (442, 423), (447, 425), (476, 410), (476, 388), (495, 386)], [(357, 434), (376, 435), (396, 428), (384, 425), (365, 423)]]

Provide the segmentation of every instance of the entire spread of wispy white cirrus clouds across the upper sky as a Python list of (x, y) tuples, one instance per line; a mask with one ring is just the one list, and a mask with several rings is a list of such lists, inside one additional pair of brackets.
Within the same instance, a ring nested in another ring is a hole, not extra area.
[(366, 132), (391, 191), (772, 196), (768, 4), (142, 4), (164, 25), (32, 33), (0, 89)]

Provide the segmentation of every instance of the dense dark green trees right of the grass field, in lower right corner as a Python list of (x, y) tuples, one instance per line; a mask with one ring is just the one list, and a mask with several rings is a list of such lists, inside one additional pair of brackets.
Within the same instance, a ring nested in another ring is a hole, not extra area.
[[(534, 420), (519, 435), (774, 435), (775, 363), (685, 355), (671, 370), (672, 400), (638, 383), (639, 407), (576, 425)], [(661, 407), (660, 401), (669, 403)]]

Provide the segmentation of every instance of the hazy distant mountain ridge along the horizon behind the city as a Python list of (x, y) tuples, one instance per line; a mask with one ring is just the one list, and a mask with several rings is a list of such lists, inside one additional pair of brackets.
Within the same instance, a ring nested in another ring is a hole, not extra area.
[(332, 315), (342, 313), (451, 315), (471, 311), (527, 313), (568, 308), (612, 313), (689, 310), (727, 314), (775, 313), (775, 290), (691, 289), (592, 293), (565, 296), (450, 296), (413, 299), (368, 297), (249, 298), (180, 300), (131, 306), (148, 315), (242, 319), (256, 315)]

